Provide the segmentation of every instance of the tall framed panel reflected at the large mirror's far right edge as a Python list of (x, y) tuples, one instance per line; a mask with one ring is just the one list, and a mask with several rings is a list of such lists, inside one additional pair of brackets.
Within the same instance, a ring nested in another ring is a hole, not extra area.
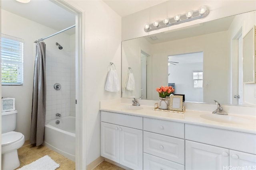
[(255, 29), (243, 38), (243, 79), (244, 83), (255, 83)]

